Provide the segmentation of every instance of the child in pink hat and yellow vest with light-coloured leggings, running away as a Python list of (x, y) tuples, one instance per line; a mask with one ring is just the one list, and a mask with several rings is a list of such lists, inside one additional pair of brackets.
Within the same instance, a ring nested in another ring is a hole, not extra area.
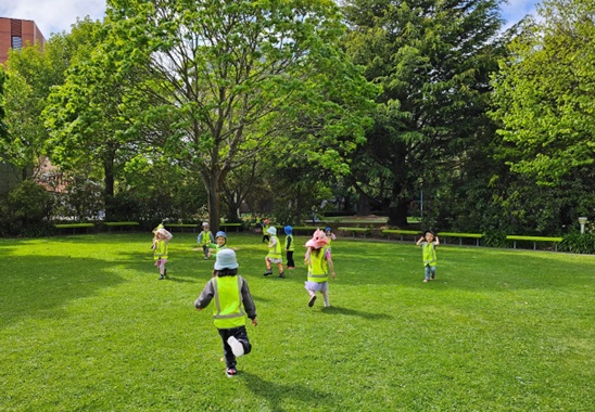
[(316, 292), (322, 294), (325, 307), (330, 306), (329, 301), (329, 272), (332, 279), (337, 278), (330, 252), (327, 249), (329, 240), (325, 232), (317, 229), (309, 241), (306, 242), (306, 255), (304, 263), (308, 268), (308, 276), (305, 288), (309, 294), (308, 307), (312, 308), (316, 301)]

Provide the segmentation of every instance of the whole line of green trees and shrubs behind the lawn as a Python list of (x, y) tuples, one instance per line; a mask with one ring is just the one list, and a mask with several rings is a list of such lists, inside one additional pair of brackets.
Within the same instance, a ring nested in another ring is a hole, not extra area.
[(217, 228), (246, 205), (298, 223), (329, 199), (406, 227), (421, 193), (439, 230), (575, 230), (595, 218), (594, 5), (545, 0), (503, 33), (498, 4), (110, 0), (0, 72), (2, 162), (27, 178), (3, 230), (99, 210)]

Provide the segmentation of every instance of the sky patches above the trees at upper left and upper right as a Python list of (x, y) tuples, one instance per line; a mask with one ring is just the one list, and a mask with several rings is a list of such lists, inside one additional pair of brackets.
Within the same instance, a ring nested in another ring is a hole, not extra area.
[[(541, 0), (508, 0), (504, 4), (505, 28), (520, 21), (526, 14), (535, 12), (535, 3)], [(53, 33), (71, 31), (77, 17), (90, 16), (103, 20), (105, 0), (0, 0), (0, 17), (33, 20), (49, 39)]]

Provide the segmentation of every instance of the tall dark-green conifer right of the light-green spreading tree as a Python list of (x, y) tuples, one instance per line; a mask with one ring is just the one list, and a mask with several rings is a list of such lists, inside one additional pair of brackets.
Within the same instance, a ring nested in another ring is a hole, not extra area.
[(347, 51), (383, 88), (375, 127), (354, 159), (360, 198), (407, 224), (420, 189), (463, 172), (497, 68), (498, 0), (345, 0)]

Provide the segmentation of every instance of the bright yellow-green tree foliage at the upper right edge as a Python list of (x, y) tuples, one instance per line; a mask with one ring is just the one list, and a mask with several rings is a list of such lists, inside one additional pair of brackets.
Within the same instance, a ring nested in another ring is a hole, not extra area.
[(544, 0), (539, 13), (494, 76), (492, 115), (502, 124), (502, 155), (511, 170), (557, 185), (593, 176), (595, 5)]

